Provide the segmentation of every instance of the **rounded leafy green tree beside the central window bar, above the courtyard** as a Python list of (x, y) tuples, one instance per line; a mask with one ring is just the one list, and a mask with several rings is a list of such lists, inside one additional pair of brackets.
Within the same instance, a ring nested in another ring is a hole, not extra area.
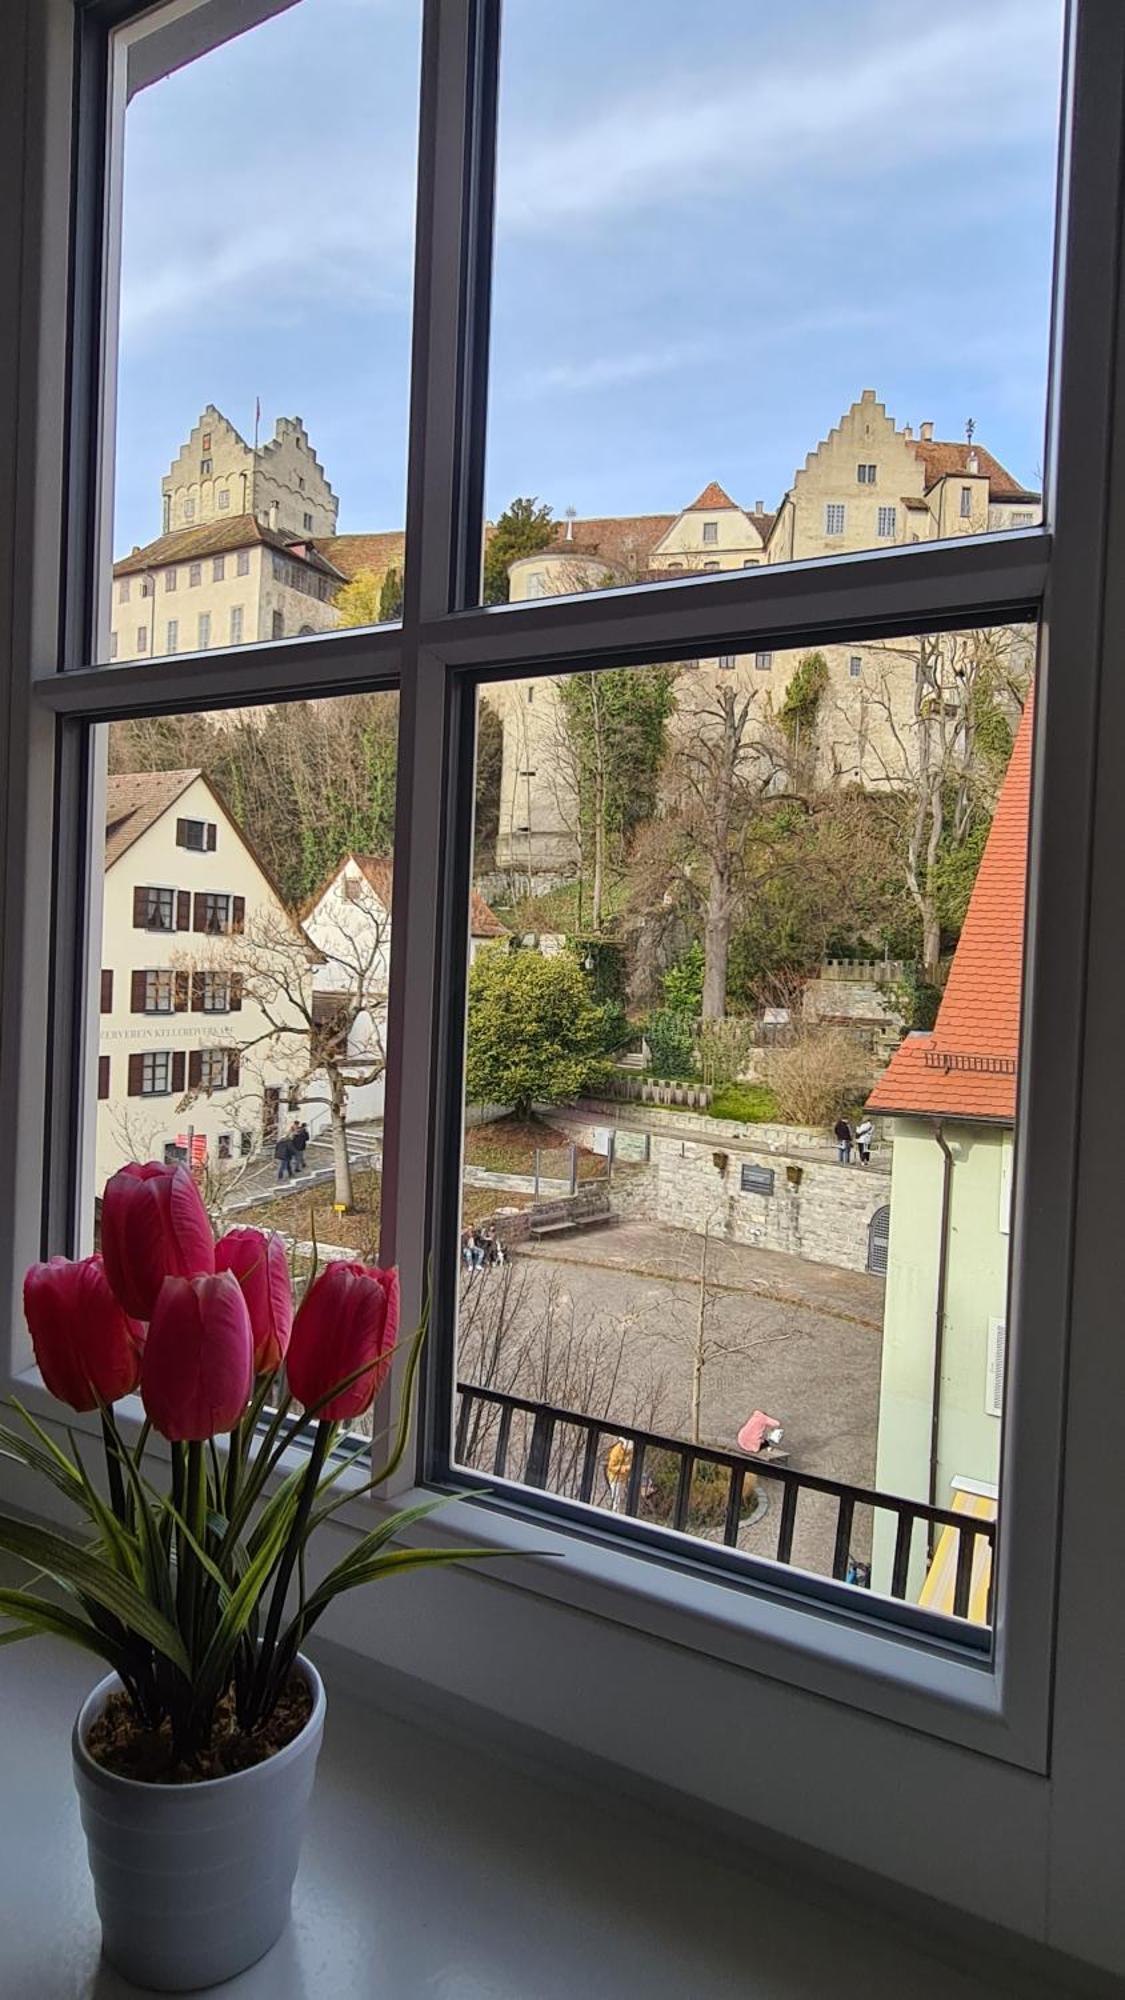
[(605, 1084), (613, 1020), (569, 952), (480, 952), (468, 974), (464, 1084), (474, 1104), (560, 1104)]

